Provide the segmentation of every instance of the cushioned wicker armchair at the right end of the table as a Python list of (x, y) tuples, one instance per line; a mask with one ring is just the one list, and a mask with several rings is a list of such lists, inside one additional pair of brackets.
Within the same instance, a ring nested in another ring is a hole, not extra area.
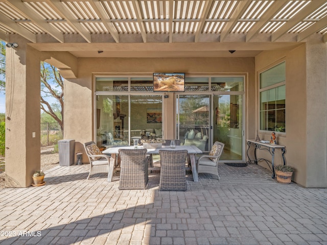
[(209, 155), (202, 155), (197, 163), (196, 168), (199, 173), (207, 173), (207, 174), (213, 174), (217, 175), (218, 180), (220, 180), (220, 176), (218, 173), (218, 161), (221, 157), (221, 154), (224, 150), (224, 143), (221, 143), (219, 141), (216, 141), (209, 152)]

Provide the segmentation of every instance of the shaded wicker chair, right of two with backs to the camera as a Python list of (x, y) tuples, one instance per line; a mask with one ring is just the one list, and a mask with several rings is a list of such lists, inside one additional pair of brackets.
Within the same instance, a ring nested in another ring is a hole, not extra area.
[(185, 159), (187, 150), (159, 150), (161, 159), (159, 190), (185, 191)]

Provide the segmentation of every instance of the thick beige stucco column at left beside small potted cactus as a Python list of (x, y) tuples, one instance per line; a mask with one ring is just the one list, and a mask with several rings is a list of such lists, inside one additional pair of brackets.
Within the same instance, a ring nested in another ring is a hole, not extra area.
[(6, 187), (28, 187), (40, 169), (39, 52), (18, 35), (6, 48)]

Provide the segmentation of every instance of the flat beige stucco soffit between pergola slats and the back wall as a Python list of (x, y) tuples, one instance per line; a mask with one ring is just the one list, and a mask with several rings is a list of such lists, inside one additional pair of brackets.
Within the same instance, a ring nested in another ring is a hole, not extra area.
[[(254, 57), (264, 50), (288, 50), (296, 42), (255, 43), (31, 43), (39, 51), (67, 51), (76, 57)], [(229, 52), (235, 51), (235, 52)]]

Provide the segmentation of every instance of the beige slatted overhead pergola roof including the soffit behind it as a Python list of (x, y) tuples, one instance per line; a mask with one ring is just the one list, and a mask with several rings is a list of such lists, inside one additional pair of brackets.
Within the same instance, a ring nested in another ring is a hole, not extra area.
[(253, 57), (326, 41), (327, 2), (0, 0), (0, 39), (16, 35), (76, 57)]

